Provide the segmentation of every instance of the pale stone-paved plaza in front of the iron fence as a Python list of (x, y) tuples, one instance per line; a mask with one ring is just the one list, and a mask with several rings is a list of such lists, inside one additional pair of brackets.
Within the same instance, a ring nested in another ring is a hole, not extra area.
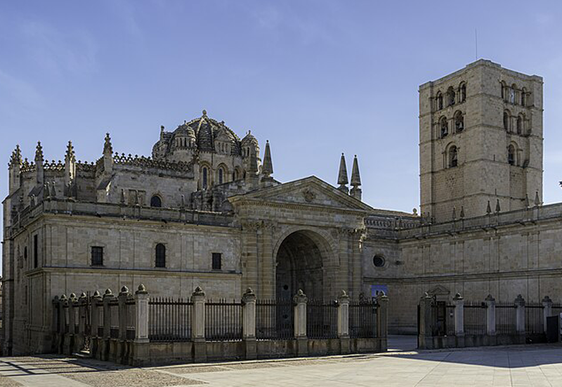
[(54, 355), (0, 358), (0, 386), (561, 386), (562, 346), (403, 351), (168, 367)]

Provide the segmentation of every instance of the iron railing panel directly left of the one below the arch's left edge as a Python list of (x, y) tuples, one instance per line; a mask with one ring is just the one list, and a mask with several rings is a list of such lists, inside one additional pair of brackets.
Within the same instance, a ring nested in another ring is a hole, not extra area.
[(205, 303), (207, 341), (242, 340), (242, 303), (222, 299)]

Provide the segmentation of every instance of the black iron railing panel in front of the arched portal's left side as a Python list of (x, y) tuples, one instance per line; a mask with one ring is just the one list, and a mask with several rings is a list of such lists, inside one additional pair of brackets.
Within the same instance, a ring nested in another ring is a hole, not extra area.
[(256, 339), (287, 340), (294, 337), (294, 304), (290, 299), (256, 301)]

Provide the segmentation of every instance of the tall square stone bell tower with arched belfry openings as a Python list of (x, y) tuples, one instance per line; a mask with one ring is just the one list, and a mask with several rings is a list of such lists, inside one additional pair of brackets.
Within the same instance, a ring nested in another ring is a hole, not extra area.
[[(434, 222), (542, 203), (542, 77), (477, 60), (419, 86), (421, 214)], [(499, 206), (497, 206), (499, 202)]]

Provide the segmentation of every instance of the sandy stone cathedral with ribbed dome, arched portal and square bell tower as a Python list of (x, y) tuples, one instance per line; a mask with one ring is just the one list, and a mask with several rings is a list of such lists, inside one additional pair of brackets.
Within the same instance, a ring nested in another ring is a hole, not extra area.
[(362, 202), (344, 155), (336, 185), (276, 181), (269, 143), (262, 154), (205, 111), (162, 126), (150, 157), (115, 152), (109, 135), (95, 162), (72, 143), (60, 162), (16, 147), (2, 348), (48, 352), (56, 295), (141, 283), (184, 299), (197, 286), (210, 299), (384, 291), (390, 332), (412, 334), (426, 291), (562, 301), (562, 204), (542, 206), (542, 140), (542, 78), (478, 60), (419, 87), (419, 213)]

